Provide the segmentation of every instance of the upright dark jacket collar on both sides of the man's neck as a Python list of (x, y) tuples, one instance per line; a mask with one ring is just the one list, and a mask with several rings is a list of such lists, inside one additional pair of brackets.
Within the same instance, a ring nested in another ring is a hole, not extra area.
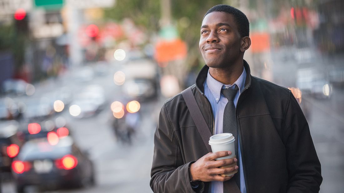
[[(251, 85), (251, 71), (250, 71), (250, 67), (249, 67), (248, 63), (246, 62), (246, 60), (244, 60), (244, 68), (246, 70), (246, 79), (245, 79), (245, 88), (244, 88), (244, 90), (245, 90)], [(208, 70), (209, 70), (209, 67), (207, 65), (205, 65), (201, 69), (200, 73), (198, 73), (197, 78), (196, 78), (196, 88), (202, 94), (204, 94), (203, 83), (207, 78)]]

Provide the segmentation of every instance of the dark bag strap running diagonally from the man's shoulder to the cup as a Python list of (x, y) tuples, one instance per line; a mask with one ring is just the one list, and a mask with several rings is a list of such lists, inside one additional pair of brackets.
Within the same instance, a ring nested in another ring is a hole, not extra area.
[(204, 145), (207, 147), (208, 152), (212, 152), (212, 148), (209, 145), (209, 138), (212, 136), (212, 133), (210, 132), (208, 125), (204, 120), (200, 107), (198, 107), (197, 105), (197, 102), (196, 102), (195, 96), (192, 93), (191, 87), (185, 89), (182, 92), (182, 95), (184, 97), (187, 109), (189, 109), (189, 112), (191, 114), (193, 121), (196, 124), (198, 132), (200, 133), (203, 139)]

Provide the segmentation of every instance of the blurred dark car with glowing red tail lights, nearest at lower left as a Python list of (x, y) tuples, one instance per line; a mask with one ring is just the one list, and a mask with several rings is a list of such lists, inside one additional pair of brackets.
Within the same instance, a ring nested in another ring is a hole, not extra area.
[(28, 185), (56, 189), (95, 183), (88, 154), (68, 136), (60, 138), (56, 145), (43, 138), (26, 142), (12, 163), (12, 174), (18, 192)]

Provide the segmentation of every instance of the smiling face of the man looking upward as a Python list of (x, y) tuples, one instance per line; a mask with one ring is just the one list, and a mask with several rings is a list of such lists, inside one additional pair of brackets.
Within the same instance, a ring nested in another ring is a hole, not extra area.
[(232, 14), (212, 12), (205, 16), (201, 27), (200, 49), (207, 66), (224, 68), (232, 65), (243, 54), (240, 42)]

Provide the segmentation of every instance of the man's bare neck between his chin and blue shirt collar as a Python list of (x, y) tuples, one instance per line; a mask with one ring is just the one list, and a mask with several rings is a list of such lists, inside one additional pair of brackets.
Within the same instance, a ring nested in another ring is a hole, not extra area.
[(210, 75), (217, 81), (232, 85), (244, 71), (244, 61), (239, 65), (228, 65), (226, 68), (209, 68)]

